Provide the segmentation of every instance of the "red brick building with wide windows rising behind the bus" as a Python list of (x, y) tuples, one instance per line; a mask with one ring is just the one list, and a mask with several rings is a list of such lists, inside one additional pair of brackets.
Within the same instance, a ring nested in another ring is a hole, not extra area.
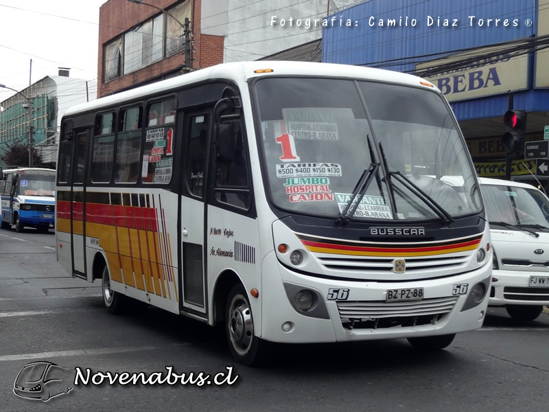
[(202, 33), (202, 0), (108, 0), (99, 23), (97, 97), (223, 62), (224, 37)]

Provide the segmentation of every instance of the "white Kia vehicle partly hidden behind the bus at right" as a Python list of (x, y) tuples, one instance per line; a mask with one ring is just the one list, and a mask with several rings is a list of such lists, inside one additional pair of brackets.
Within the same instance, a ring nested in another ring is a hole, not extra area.
[(533, 321), (549, 305), (549, 198), (513, 181), (480, 179), (490, 224), (493, 277), (489, 306)]

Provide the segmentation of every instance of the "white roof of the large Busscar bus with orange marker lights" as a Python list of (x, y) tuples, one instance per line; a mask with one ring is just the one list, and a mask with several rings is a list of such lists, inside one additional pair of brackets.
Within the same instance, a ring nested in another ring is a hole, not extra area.
[[(268, 73), (255, 73), (255, 70), (272, 69)], [(209, 79), (229, 79), (235, 81), (246, 81), (249, 78), (260, 76), (330, 76), (334, 78), (360, 78), (364, 80), (379, 80), (385, 82), (394, 82), (401, 84), (410, 84), (419, 86), (420, 82), (425, 85), (425, 80), (398, 71), (389, 71), (384, 69), (373, 69), (371, 67), (360, 67), (353, 65), (336, 65), (333, 63), (318, 62), (289, 62), (289, 61), (271, 61), (258, 60), (250, 62), (224, 63), (191, 71), (183, 76), (177, 76), (167, 80), (161, 80), (152, 84), (137, 87), (105, 98), (93, 100), (84, 104), (78, 104), (69, 108), (65, 116), (71, 116), (87, 111), (95, 111), (106, 106), (122, 104), (131, 100), (137, 100), (143, 96), (152, 93), (161, 93), (170, 91), (178, 87), (184, 87), (187, 84), (202, 82)], [(430, 84), (430, 83), (428, 83)], [(433, 89), (436, 87), (432, 86)], [(437, 89), (438, 90), (438, 89)]]

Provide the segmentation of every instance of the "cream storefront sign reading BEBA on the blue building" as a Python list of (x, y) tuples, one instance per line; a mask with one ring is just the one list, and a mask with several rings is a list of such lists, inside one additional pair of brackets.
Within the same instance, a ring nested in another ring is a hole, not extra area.
[[(418, 63), (416, 73), (441, 89), (449, 102), (526, 89), (528, 55), (498, 54), (502, 47), (482, 47)], [(463, 62), (463, 67), (445, 69), (458, 62)]]

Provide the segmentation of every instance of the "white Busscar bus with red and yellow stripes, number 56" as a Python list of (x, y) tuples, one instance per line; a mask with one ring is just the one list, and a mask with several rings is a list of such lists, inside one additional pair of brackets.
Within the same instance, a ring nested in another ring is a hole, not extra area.
[(268, 342), (440, 349), (482, 325), (478, 179), (421, 78), (231, 63), (75, 106), (61, 127), (58, 260), (102, 282), (110, 312), (134, 299), (224, 324), (246, 365)]

